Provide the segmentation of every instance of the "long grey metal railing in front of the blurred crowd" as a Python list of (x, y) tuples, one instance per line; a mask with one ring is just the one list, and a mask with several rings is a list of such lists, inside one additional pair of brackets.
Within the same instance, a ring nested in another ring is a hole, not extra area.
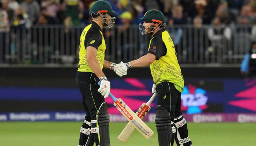
[[(84, 27), (11, 27), (0, 32), (0, 64), (77, 64)], [(239, 64), (249, 51), (252, 26), (166, 27), (181, 64)], [(137, 25), (103, 29), (105, 59), (130, 61), (147, 53), (150, 38)]]

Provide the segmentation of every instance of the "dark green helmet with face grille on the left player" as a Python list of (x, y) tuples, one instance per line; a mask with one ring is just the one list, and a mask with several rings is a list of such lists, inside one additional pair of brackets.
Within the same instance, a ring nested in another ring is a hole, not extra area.
[[(95, 16), (99, 16), (98, 19), (102, 17), (103, 23), (106, 24), (106, 26), (108, 26), (109, 28), (111, 28), (116, 22), (116, 18), (110, 17), (110, 16), (114, 15), (115, 13), (116, 12), (113, 11), (112, 6), (107, 1), (98, 0), (98, 1), (95, 1), (91, 6), (90, 16), (92, 18), (94, 18)], [(94, 19), (97, 19), (97, 18), (94, 18)]]

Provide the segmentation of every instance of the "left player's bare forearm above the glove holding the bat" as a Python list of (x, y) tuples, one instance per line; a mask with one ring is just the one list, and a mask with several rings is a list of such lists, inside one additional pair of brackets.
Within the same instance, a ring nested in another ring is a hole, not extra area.
[(105, 77), (105, 74), (101, 70), (101, 66), (99, 65), (98, 60), (96, 57), (87, 58), (88, 65), (90, 66), (91, 70), (96, 74), (98, 78)]

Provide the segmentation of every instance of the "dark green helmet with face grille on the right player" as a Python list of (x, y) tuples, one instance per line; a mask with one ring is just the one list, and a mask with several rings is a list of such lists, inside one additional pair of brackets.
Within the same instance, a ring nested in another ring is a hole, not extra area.
[(157, 9), (152, 9), (149, 10), (145, 13), (144, 17), (140, 18), (140, 20), (145, 21), (145, 22), (151, 22), (151, 25), (148, 26), (149, 28), (151, 28), (151, 31), (147, 31), (146, 32), (146, 28), (144, 28), (143, 24), (140, 23), (139, 24), (139, 30), (142, 33), (142, 35), (144, 34), (148, 34), (153, 32), (156, 28), (159, 27), (165, 27), (165, 16), (163, 15), (163, 13)]

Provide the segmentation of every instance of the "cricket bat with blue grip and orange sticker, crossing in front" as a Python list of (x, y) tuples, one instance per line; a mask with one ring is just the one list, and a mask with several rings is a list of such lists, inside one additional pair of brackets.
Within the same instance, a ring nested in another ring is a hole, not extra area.
[[(98, 85), (100, 84), (101, 83), (98, 82)], [(121, 98), (117, 99), (112, 93), (109, 93), (109, 96), (114, 101), (114, 106), (145, 138), (150, 139), (154, 135), (154, 132), (131, 110), (131, 108), (128, 107), (127, 104), (124, 103)]]

